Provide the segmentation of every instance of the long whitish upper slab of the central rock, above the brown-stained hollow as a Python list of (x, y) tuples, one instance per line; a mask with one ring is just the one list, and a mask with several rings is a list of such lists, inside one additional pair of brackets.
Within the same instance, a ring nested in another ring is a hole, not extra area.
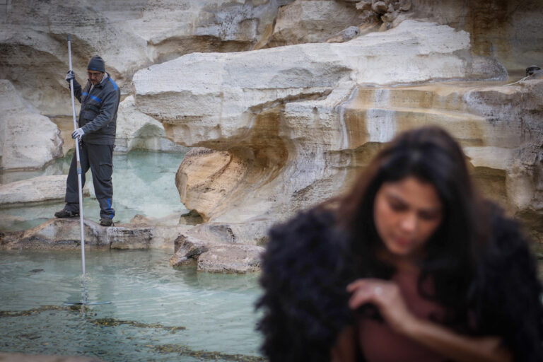
[[(221, 148), (223, 140), (243, 139), (262, 110), (321, 98), (345, 81), (383, 86), (506, 78), (497, 62), (473, 58), (469, 49), (468, 33), (405, 21), (340, 44), (187, 54), (134, 75), (136, 106), (163, 122), (177, 143)], [(181, 124), (184, 131), (176, 134)]]

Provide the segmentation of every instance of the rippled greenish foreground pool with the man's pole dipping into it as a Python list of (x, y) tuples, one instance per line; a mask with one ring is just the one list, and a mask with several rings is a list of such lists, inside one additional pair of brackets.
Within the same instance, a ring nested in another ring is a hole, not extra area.
[(263, 361), (258, 274), (173, 269), (169, 252), (0, 252), (0, 351), (103, 361)]

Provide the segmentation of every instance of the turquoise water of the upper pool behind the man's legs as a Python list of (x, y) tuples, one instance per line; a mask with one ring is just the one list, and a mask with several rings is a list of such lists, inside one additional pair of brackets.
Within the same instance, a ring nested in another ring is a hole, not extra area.
[[(175, 187), (175, 173), (185, 153), (159, 153), (131, 151), (113, 156), (113, 207), (115, 223), (128, 223), (136, 214), (163, 217), (188, 212), (180, 202)], [(45, 170), (1, 173), (2, 183), (68, 173), (71, 154), (57, 160)], [(100, 207), (94, 197), (91, 171), (86, 173), (86, 186), (91, 197), (83, 202), (83, 213), (93, 221), (100, 220)], [(64, 207), (64, 201), (43, 204), (0, 206), (0, 230), (25, 230), (53, 218), (55, 211)]]

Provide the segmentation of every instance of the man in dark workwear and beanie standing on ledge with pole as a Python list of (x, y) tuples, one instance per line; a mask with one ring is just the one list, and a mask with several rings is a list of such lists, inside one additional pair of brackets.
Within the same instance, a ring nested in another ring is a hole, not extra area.
[[(68, 71), (66, 81), (74, 80), (74, 95), (81, 103), (78, 129), (71, 138), (78, 139), (81, 161), (81, 187), (85, 185), (85, 173), (91, 168), (96, 198), (100, 203), (100, 225), (111, 226), (115, 210), (112, 208), (113, 148), (117, 127), (117, 108), (121, 92), (117, 83), (105, 71), (102, 58), (96, 55), (88, 62), (88, 82), (81, 91), (73, 71)], [(79, 192), (76, 155), (71, 159), (66, 180), (66, 206), (54, 213), (57, 218), (79, 216)]]

